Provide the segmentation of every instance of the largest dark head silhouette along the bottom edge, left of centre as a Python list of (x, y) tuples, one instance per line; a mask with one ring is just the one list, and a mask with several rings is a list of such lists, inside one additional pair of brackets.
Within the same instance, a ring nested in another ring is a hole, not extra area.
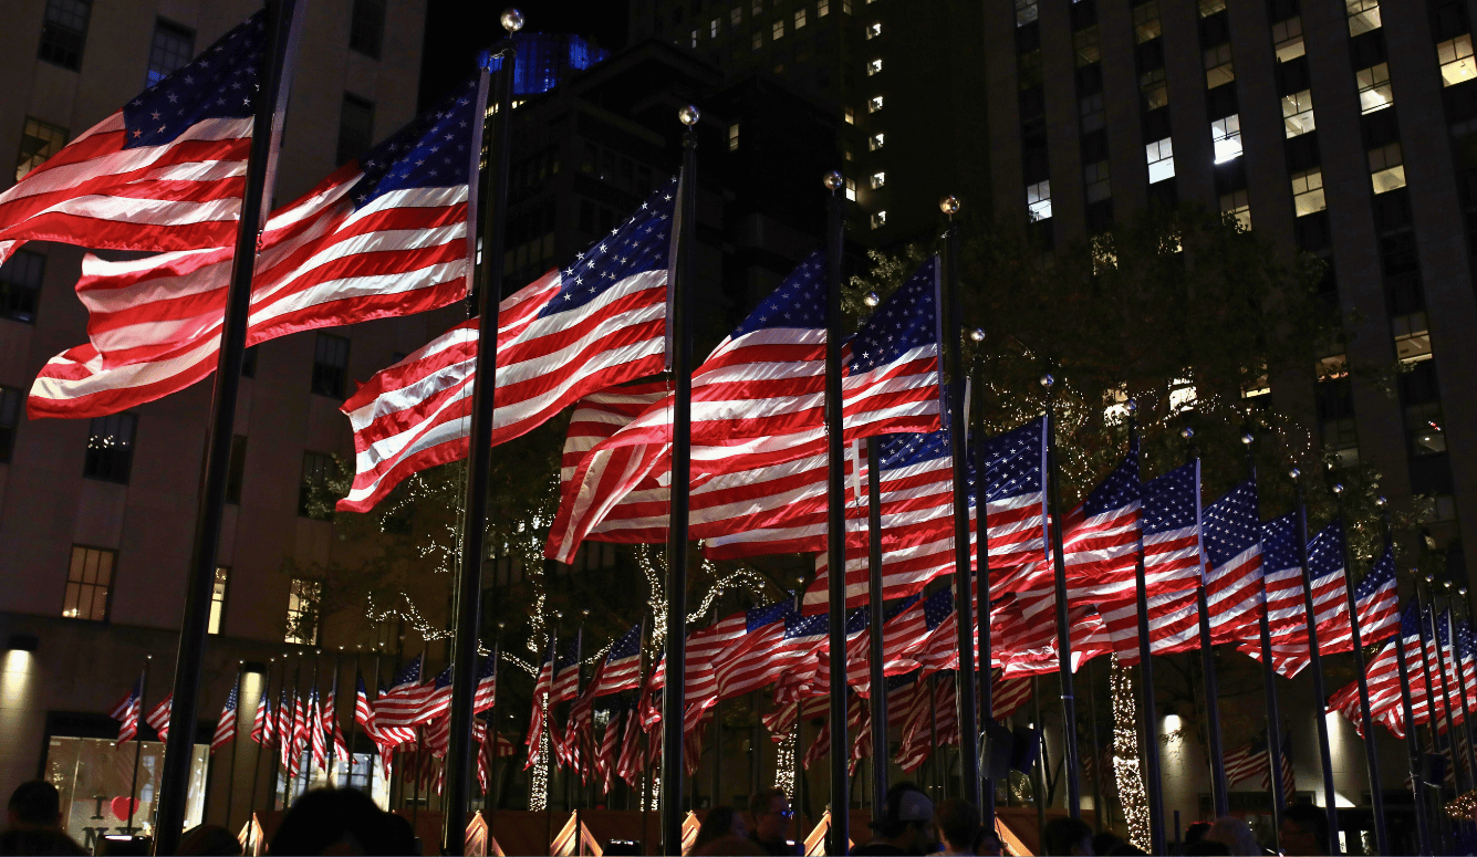
[[(405, 836), (356, 789), (313, 789), (282, 816), (273, 854), (405, 854)], [(414, 836), (411, 839), (414, 847)]]

